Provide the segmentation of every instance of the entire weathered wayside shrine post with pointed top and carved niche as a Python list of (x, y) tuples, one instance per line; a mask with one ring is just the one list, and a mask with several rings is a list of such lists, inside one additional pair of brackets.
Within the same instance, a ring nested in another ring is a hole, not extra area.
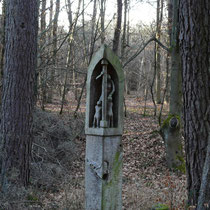
[(86, 210), (122, 209), (124, 74), (103, 45), (93, 57), (86, 99)]

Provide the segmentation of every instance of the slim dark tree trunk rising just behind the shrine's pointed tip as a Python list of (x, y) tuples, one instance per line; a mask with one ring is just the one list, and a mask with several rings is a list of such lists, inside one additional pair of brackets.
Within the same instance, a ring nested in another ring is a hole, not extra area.
[(113, 39), (113, 52), (115, 52), (116, 54), (118, 54), (121, 22), (122, 22), (122, 0), (117, 0), (117, 24), (114, 31), (114, 39)]

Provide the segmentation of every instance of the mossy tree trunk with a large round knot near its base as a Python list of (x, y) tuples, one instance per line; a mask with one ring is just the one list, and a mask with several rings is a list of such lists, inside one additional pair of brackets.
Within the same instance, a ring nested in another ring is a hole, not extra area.
[(166, 147), (166, 161), (170, 169), (178, 169), (185, 172), (185, 162), (182, 151), (181, 113), (181, 65), (178, 43), (178, 3), (173, 0), (173, 18), (171, 37), (171, 88), (169, 116), (161, 126), (161, 135)]

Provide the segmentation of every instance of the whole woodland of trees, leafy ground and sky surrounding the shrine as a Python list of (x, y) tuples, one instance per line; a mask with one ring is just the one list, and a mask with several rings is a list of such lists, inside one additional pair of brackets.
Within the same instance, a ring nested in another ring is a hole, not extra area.
[[(154, 20), (135, 20), (141, 4)], [(125, 74), (123, 209), (209, 208), (207, 1), (1, 8), (0, 208), (84, 209), (86, 75), (103, 43)]]

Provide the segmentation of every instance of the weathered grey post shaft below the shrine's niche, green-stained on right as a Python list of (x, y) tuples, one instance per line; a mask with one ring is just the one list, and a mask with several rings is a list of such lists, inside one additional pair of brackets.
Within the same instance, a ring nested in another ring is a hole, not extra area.
[(121, 136), (86, 136), (86, 210), (122, 209)]

